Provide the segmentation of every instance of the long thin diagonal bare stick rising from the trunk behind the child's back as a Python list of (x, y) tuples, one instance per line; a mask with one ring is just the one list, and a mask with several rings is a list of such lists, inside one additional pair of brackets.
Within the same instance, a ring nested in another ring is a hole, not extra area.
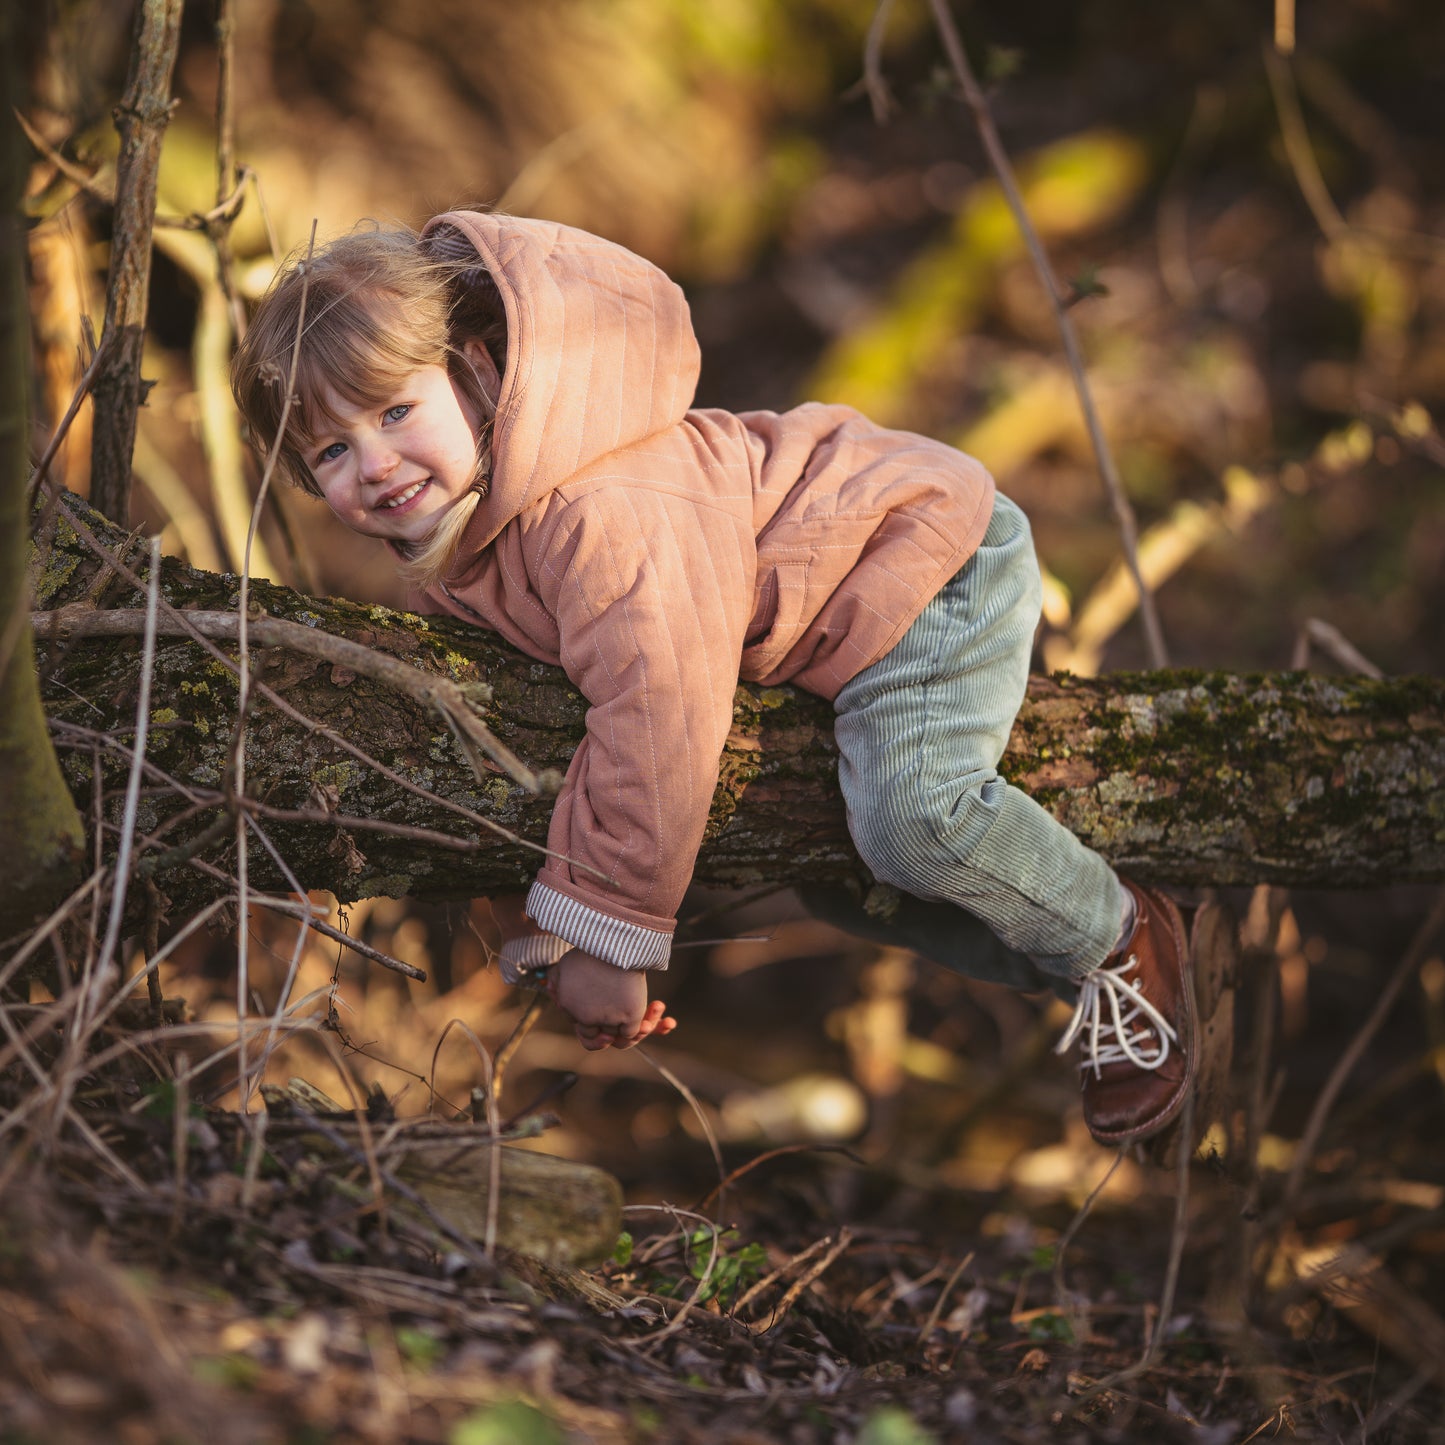
[(939, 35), (944, 39), (944, 49), (948, 52), (949, 64), (962, 87), (964, 100), (974, 113), (974, 124), (978, 127), (978, 136), (984, 143), (988, 162), (998, 178), (998, 185), (1003, 188), (1009, 210), (1013, 212), (1014, 223), (1023, 234), (1033, 267), (1039, 273), (1039, 280), (1043, 283), (1045, 295), (1053, 309), (1053, 319), (1059, 328), (1059, 338), (1064, 342), (1064, 354), (1069, 363), (1069, 374), (1074, 377), (1074, 389), (1078, 392), (1079, 409), (1084, 413), (1084, 423), (1088, 428), (1100, 475), (1104, 478), (1104, 487), (1108, 491), (1114, 519), (1118, 523), (1120, 538), (1124, 543), (1124, 562), (1139, 591), (1139, 613), (1144, 624), (1150, 666), (1168, 668), (1169, 653), (1165, 647), (1163, 630), (1159, 626), (1159, 613), (1155, 608), (1153, 594), (1149, 591), (1143, 572), (1139, 569), (1139, 526), (1134, 522), (1134, 509), (1124, 493), (1123, 480), (1118, 475), (1114, 455), (1110, 451), (1104, 428), (1098, 419), (1098, 410), (1094, 406), (1094, 393), (1090, 387), (1088, 374), (1084, 370), (1084, 353), (1079, 348), (1074, 322), (1065, 309), (1065, 298), (1059, 290), (1059, 283), (1053, 276), (1053, 267), (1049, 264), (1049, 257), (1043, 250), (1043, 243), (1039, 240), (1039, 233), (1033, 227), (1033, 220), (1023, 204), (1023, 197), (1019, 194), (1013, 165), (998, 137), (998, 127), (994, 124), (993, 111), (988, 108), (988, 98), (980, 88), (972, 66), (968, 64), (964, 42), (958, 35), (958, 26), (954, 25), (954, 17), (949, 14), (945, 0), (929, 0), (929, 4), (933, 10), (933, 20), (938, 25)]

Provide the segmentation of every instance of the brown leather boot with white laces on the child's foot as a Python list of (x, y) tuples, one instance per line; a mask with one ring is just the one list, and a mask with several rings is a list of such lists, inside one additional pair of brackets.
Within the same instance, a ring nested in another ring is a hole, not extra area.
[(1121, 881), (1134, 897), (1134, 931), (1082, 980), (1058, 1045), (1082, 1051), (1084, 1123), (1101, 1144), (1157, 1134), (1183, 1107), (1195, 1071), (1183, 919), (1163, 893)]

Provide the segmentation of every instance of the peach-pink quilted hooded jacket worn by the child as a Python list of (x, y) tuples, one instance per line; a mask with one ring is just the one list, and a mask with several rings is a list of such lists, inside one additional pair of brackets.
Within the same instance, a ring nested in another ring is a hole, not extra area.
[(665, 968), (738, 679), (834, 696), (978, 546), (993, 481), (842, 406), (692, 409), (698, 342), (660, 270), (548, 221), (444, 221), (509, 341), (491, 487), (429, 600), (590, 704), (510, 961)]

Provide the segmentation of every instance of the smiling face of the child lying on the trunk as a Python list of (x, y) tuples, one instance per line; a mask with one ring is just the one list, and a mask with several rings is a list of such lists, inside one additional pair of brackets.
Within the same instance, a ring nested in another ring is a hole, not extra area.
[(477, 471), (477, 418), (447, 368), (423, 367), (374, 407), (332, 393), (308, 449), (327, 506), (354, 532), (423, 540)]

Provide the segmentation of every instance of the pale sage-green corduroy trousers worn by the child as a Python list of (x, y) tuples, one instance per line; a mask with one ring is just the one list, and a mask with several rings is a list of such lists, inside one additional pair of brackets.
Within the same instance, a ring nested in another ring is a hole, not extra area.
[[(1000, 496), (983, 546), (838, 694), (838, 782), (877, 879), (952, 903), (1042, 972), (1077, 978), (1114, 946), (1123, 889), (996, 770), (1027, 688), (1039, 604), (1029, 523)], [(968, 972), (967, 955), (941, 961)]]

